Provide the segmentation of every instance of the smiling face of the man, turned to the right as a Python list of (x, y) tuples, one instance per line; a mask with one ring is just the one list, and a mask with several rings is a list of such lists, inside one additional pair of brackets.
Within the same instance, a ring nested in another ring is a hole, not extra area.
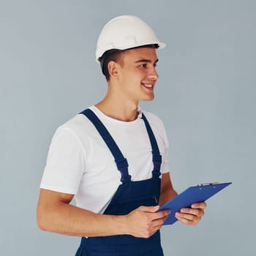
[(118, 84), (127, 99), (135, 102), (154, 99), (154, 86), (159, 75), (155, 69), (157, 53), (154, 48), (126, 50), (121, 56)]

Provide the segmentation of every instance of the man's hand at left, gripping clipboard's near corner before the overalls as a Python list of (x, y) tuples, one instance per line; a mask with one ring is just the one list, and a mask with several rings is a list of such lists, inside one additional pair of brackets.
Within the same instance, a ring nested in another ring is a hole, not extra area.
[(158, 211), (159, 206), (140, 206), (127, 217), (128, 234), (148, 238), (159, 230), (170, 214), (169, 210)]

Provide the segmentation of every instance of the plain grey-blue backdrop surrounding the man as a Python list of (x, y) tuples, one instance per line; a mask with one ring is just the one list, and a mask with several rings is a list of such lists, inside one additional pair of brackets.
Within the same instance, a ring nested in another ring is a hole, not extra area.
[(197, 227), (162, 228), (165, 255), (255, 255), (256, 1), (0, 1), (1, 255), (74, 255), (79, 239), (37, 228), (39, 182), (55, 129), (104, 97), (94, 61), (102, 26), (138, 15), (159, 51), (154, 102), (178, 192), (233, 185)]

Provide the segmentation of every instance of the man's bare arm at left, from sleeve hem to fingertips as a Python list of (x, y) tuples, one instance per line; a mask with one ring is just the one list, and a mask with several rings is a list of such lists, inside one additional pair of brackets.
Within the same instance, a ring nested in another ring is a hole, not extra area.
[(159, 206), (141, 206), (125, 216), (94, 214), (72, 206), (73, 195), (40, 189), (37, 206), (39, 228), (69, 236), (113, 236), (129, 234), (148, 238), (160, 227), (169, 211)]

